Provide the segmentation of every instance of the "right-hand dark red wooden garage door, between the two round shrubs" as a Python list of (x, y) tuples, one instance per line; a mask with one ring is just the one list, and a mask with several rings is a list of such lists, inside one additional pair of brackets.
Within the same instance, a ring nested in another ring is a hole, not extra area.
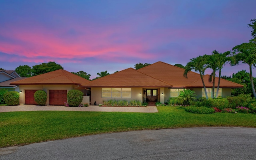
[(49, 90), (49, 105), (63, 106), (67, 102), (67, 90)]

